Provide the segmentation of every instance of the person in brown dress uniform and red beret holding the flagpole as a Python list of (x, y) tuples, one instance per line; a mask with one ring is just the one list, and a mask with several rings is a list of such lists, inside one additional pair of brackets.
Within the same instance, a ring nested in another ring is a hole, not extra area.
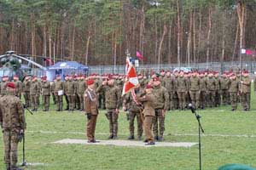
[(144, 110), (144, 131), (146, 135), (145, 142), (147, 145), (154, 144), (154, 138), (152, 134), (152, 123), (155, 116), (154, 112), (154, 94), (152, 94), (153, 88), (150, 85), (146, 85), (146, 94), (138, 98), (139, 102), (143, 103)]

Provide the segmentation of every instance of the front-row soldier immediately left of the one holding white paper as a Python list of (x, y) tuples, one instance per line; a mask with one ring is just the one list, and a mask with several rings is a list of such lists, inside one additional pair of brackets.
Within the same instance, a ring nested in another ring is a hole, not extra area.
[(47, 77), (42, 77), (42, 95), (44, 111), (49, 111), (50, 84), (47, 81)]

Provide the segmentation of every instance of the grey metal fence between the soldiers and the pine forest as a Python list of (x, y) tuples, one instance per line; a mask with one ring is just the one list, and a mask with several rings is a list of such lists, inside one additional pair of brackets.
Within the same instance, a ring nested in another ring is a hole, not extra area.
[[(153, 71), (173, 71), (175, 68), (181, 67), (190, 67), (193, 70), (198, 71), (230, 71), (231, 69), (237, 70), (242, 68), (246, 69), (250, 73), (254, 73), (256, 71), (256, 61), (244, 61), (241, 64), (239, 62), (212, 62), (212, 63), (197, 63), (197, 64), (190, 64), (190, 65), (177, 65), (177, 64), (161, 64), (161, 65), (139, 65), (137, 67), (137, 71), (142, 70), (153, 70)], [(91, 65), (89, 66), (89, 73), (96, 73), (96, 74), (125, 74), (125, 65)]]

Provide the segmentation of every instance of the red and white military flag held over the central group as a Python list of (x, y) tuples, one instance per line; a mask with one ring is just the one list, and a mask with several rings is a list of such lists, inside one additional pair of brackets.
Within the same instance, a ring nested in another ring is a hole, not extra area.
[(137, 78), (137, 73), (132, 65), (129, 57), (126, 58), (126, 68), (125, 68), (125, 84), (123, 88), (122, 96), (125, 94), (128, 94), (129, 92), (132, 92), (132, 97), (135, 99), (136, 96), (134, 93), (134, 89), (139, 87), (139, 82)]

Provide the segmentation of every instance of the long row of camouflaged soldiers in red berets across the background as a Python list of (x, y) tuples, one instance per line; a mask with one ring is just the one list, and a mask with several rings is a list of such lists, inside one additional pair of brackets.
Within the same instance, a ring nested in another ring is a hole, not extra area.
[[(233, 72), (224, 72), (219, 75), (218, 72), (189, 72), (183, 71), (160, 71), (160, 74), (153, 74), (150, 78), (159, 77), (160, 84), (166, 88), (169, 94), (169, 103), (167, 110), (185, 110), (189, 103), (195, 105), (195, 108), (204, 109), (206, 107), (216, 107), (219, 105), (232, 105), (232, 111), (236, 111), (237, 103), (241, 101), (244, 111), (250, 110), (250, 78), (247, 71), (241, 74)], [(141, 87), (145, 87), (150, 78), (138, 75)], [(4, 84), (9, 82), (9, 77), (3, 77), (0, 84), (0, 94), (4, 94)], [(40, 105), (40, 96), (42, 96), (44, 111), (49, 111), (49, 96), (52, 95), (54, 103), (57, 104), (57, 111), (63, 110), (63, 98), (66, 99), (67, 111), (84, 110), (84, 91), (86, 89), (85, 79), (94, 79), (95, 86), (98, 88), (108, 76), (99, 77), (97, 75), (84, 76), (66, 76), (65, 81), (61, 81), (61, 76), (57, 76), (54, 82), (48, 82), (47, 77), (26, 76), (24, 82), (19, 81), (15, 76), (15, 95), (21, 97), (24, 95), (26, 106), (31, 106), (32, 111), (38, 111)], [(124, 76), (113, 76), (114, 84), (118, 88), (119, 98), (121, 98), (124, 84)], [(234, 82), (234, 83), (232, 83)], [(235, 83), (236, 82), (236, 83)], [(243, 82), (243, 83), (241, 83)], [(247, 83), (247, 84), (244, 84)], [(254, 86), (255, 87), (255, 86)], [(236, 95), (235, 95), (236, 94)], [(102, 89), (97, 93), (98, 105), (106, 109), (106, 90)], [(119, 105), (122, 105), (122, 99), (119, 99)]]

